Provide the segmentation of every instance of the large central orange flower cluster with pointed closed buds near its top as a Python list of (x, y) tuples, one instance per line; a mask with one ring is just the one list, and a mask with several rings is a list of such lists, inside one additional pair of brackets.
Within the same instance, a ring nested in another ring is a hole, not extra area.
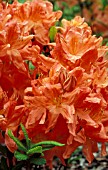
[[(69, 146), (66, 147), (64, 158), (74, 151), (70, 149), (71, 144), (73, 147), (74, 144), (85, 146), (88, 136), (96, 141), (108, 140), (103, 126), (100, 125), (104, 117), (102, 109), (106, 109), (107, 103), (101, 94), (93, 94), (90, 87), (85, 87), (87, 86), (85, 81), (90, 77), (87, 75), (86, 79), (84, 77), (81, 68), (67, 72), (61, 65), (56, 64), (50, 69), (49, 78), (32, 82), (33, 88), (25, 91), (27, 95), (25, 105), (30, 109), (26, 123), (28, 130), (36, 129), (39, 122), (39, 124), (45, 124), (44, 132), (49, 134), (50, 130), (55, 128), (60, 114), (65, 119), (70, 137), (67, 138)], [(90, 86), (91, 83), (88, 85)], [(88, 133), (88, 128), (92, 127), (94, 128), (93, 135)], [(83, 140), (81, 139), (82, 128)], [(32, 137), (32, 133), (30, 136)], [(91, 162), (93, 155), (87, 159)]]

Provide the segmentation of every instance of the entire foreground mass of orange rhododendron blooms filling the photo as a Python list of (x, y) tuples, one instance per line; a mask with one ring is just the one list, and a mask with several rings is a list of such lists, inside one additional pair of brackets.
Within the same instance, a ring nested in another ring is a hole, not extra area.
[(79, 16), (56, 26), (61, 15), (43, 0), (0, 4), (0, 140), (14, 152), (8, 129), (21, 140), (22, 122), (32, 142), (65, 144), (45, 152), (48, 163), (80, 145), (91, 163), (108, 142), (108, 47)]

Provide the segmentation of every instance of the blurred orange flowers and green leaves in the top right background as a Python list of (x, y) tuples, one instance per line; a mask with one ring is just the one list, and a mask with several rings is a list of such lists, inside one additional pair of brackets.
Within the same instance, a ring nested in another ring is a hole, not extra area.
[[(81, 15), (85, 18), (86, 22), (91, 25), (94, 34), (104, 37), (105, 42), (108, 41), (108, 2), (107, 0), (56, 0), (54, 1), (58, 7), (64, 12), (64, 17), (67, 18), (65, 12), (64, 2), (68, 11), (74, 11), (74, 15)], [(76, 10), (75, 10), (76, 8)], [(76, 12), (76, 14), (75, 14)]]

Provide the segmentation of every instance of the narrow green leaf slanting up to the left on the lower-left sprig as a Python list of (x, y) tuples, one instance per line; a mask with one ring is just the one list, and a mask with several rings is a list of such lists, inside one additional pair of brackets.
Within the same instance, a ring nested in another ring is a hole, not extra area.
[(13, 139), (14, 142), (17, 144), (19, 150), (25, 151), (25, 152), (27, 151), (26, 147), (20, 142), (20, 140), (19, 140), (18, 138), (16, 138), (16, 137), (13, 135), (13, 133), (12, 133), (12, 131), (11, 131), (10, 129), (8, 130), (8, 135), (9, 135), (9, 137), (10, 137), (11, 139)]

